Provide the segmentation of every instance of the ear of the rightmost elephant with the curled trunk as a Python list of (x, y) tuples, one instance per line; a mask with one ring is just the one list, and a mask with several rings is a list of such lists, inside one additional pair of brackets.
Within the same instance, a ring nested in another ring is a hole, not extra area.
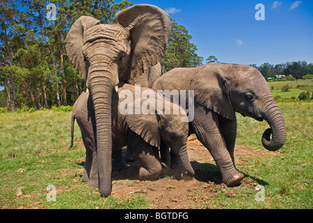
[(195, 101), (224, 118), (236, 118), (230, 102), (230, 85), (218, 72), (202, 70), (191, 79)]

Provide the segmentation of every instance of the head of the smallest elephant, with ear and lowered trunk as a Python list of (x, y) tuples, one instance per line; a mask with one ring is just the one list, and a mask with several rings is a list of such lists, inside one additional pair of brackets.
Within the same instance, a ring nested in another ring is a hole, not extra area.
[[(150, 91), (152, 90), (150, 89)], [(157, 94), (155, 91), (153, 92)], [(158, 98), (158, 100), (140, 98), (135, 100), (135, 106), (136, 103), (140, 103), (142, 108), (149, 107), (150, 114), (127, 115), (126, 121), (129, 128), (151, 146), (161, 146), (162, 140), (171, 148), (173, 153), (179, 156), (185, 171), (194, 176), (195, 172), (191, 167), (187, 153), (188, 122), (182, 121), (187, 120), (184, 110), (163, 97)], [(166, 106), (169, 107), (168, 112), (166, 112)], [(177, 112), (178, 114), (176, 114), (173, 111), (180, 111), (180, 113)]]

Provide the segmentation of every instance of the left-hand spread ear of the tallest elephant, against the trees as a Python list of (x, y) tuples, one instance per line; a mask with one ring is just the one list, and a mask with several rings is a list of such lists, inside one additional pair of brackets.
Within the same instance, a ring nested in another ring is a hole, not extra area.
[(83, 59), (83, 32), (91, 26), (100, 22), (90, 16), (81, 16), (76, 20), (65, 38), (65, 48), (67, 56), (70, 58), (75, 68), (84, 81), (87, 79), (87, 65)]

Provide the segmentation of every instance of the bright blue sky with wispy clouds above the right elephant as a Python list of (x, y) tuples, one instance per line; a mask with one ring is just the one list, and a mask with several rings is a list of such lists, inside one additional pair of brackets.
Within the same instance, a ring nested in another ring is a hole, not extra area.
[[(198, 55), (224, 63), (313, 63), (312, 0), (133, 0), (166, 10), (188, 29)], [(255, 20), (257, 3), (265, 20)], [(204, 61), (205, 63), (205, 61)]]

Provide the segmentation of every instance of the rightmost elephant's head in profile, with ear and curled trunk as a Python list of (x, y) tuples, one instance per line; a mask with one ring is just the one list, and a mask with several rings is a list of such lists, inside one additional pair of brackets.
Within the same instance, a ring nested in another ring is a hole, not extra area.
[(197, 102), (225, 118), (234, 119), (235, 112), (239, 112), (257, 121), (265, 120), (270, 128), (262, 136), (264, 148), (277, 151), (284, 145), (284, 119), (259, 70), (223, 63), (209, 63), (202, 69), (191, 79)]

